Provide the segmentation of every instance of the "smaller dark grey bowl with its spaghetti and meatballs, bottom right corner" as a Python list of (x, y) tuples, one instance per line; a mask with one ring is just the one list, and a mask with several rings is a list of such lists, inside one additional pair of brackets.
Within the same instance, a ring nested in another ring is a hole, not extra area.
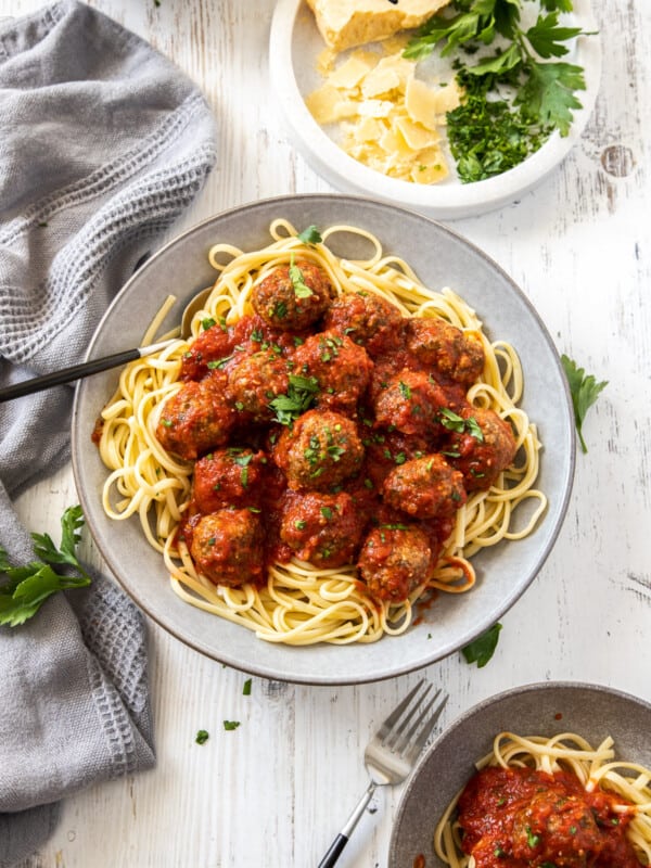
[(403, 794), (390, 868), (651, 864), (651, 705), (540, 682), (462, 714)]

